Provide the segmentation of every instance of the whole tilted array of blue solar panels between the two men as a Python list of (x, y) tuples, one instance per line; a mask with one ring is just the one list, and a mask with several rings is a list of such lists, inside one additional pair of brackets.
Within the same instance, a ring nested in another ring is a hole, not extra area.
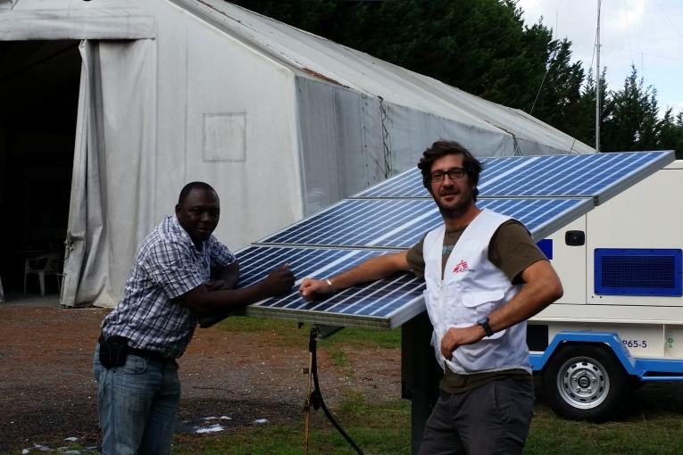
[[(672, 152), (602, 153), (484, 159), (481, 209), (519, 219), (537, 241), (673, 161)], [(298, 294), (304, 277), (331, 277), (379, 254), (417, 243), (442, 219), (419, 170), (336, 203), (237, 252), (240, 286), (287, 262), (292, 292), (250, 305), (246, 314), (335, 326), (397, 327), (424, 310), (424, 283), (398, 274), (319, 302)]]

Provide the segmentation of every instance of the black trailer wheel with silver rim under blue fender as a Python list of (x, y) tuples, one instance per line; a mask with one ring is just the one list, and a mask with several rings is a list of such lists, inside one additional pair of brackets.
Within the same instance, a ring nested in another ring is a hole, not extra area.
[(604, 422), (621, 410), (630, 383), (610, 349), (581, 343), (562, 346), (548, 361), (543, 388), (558, 415)]

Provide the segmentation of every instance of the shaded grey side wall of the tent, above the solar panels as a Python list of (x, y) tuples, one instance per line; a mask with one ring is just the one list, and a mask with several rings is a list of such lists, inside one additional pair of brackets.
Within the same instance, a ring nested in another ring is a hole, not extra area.
[(487, 122), (445, 119), (306, 77), (296, 87), (305, 214), (414, 166), (440, 137), (457, 137), (478, 156), (514, 150), (512, 135)]

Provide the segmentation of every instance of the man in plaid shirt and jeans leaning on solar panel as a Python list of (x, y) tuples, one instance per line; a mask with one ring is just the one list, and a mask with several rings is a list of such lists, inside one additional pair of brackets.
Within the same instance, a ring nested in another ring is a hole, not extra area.
[(208, 184), (187, 184), (175, 211), (138, 248), (123, 298), (102, 322), (93, 370), (105, 454), (171, 453), (180, 400), (175, 360), (198, 318), (224, 316), (294, 285), (283, 265), (234, 289), (237, 260), (212, 236), (221, 210)]

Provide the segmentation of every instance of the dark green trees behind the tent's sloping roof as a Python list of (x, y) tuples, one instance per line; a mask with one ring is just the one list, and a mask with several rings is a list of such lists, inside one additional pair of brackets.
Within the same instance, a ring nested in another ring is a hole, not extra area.
[[(529, 112), (596, 144), (596, 75), (571, 62), (571, 42), (525, 24), (514, 0), (234, 0), (233, 3), (472, 95)], [(683, 112), (659, 115), (635, 67), (622, 87), (600, 77), (602, 152), (676, 150)]]

